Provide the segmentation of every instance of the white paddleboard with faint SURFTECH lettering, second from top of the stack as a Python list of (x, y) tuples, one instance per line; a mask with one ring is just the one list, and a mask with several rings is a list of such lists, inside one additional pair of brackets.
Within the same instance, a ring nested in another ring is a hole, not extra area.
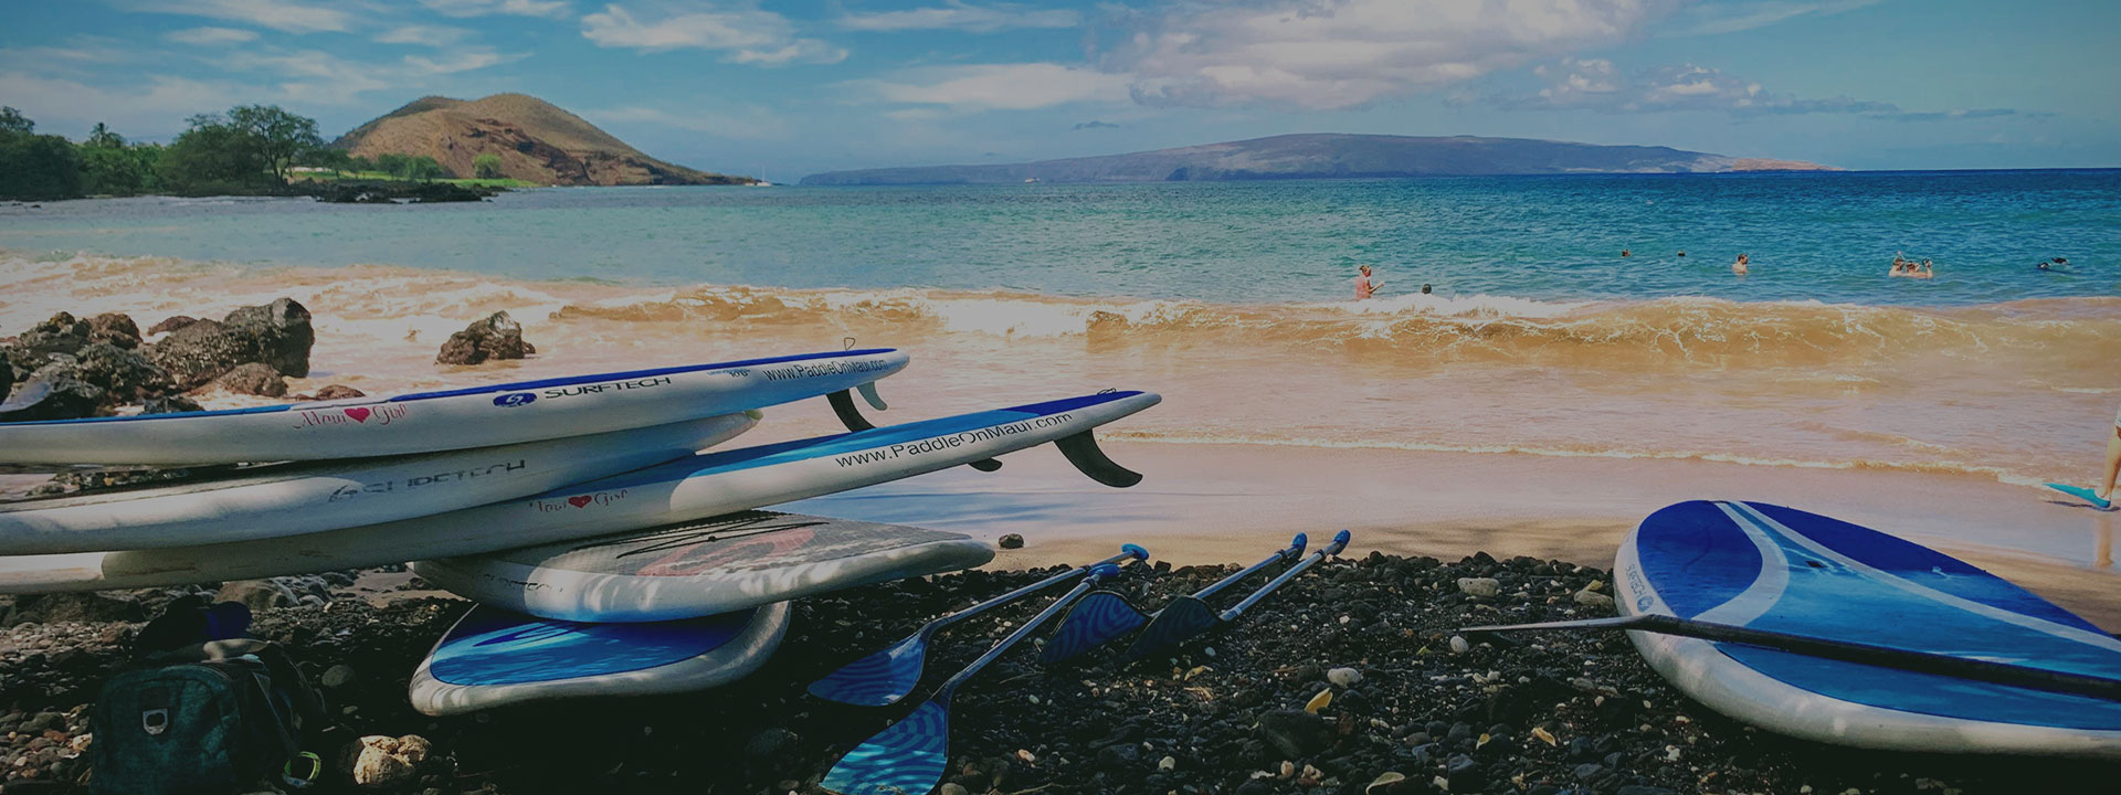
[(458, 511), (687, 458), (751, 426), (749, 418), (723, 416), (503, 447), (271, 464), (197, 483), (4, 502), (0, 553), (191, 547)]

